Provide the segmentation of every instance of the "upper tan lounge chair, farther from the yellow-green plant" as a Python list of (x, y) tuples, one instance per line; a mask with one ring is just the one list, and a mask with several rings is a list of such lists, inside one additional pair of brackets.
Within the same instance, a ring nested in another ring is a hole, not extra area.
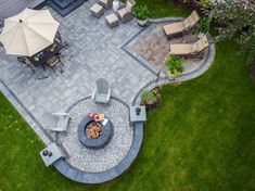
[(163, 30), (169, 40), (173, 37), (183, 35), (189, 31), (200, 21), (196, 11), (193, 11), (184, 21), (171, 23), (163, 26)]

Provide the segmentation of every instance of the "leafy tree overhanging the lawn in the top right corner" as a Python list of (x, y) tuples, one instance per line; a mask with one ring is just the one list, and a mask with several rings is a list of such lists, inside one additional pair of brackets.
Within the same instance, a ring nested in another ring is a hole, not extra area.
[(255, 60), (255, 1), (220, 0), (212, 11), (213, 17), (222, 26), (216, 41), (235, 40), (238, 53), (247, 55), (247, 63)]

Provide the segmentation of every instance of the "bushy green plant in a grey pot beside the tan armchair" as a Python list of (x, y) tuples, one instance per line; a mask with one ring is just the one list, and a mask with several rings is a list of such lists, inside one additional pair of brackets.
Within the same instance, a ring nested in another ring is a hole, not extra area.
[(146, 5), (135, 7), (135, 16), (139, 26), (145, 26), (149, 17), (149, 10)]

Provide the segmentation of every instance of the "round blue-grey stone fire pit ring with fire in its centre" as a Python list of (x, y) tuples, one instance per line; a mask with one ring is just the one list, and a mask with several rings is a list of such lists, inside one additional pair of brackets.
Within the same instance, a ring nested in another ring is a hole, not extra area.
[(81, 144), (88, 149), (102, 149), (113, 136), (112, 123), (109, 120), (105, 125), (102, 122), (94, 122), (88, 115), (82, 118), (78, 126), (78, 139)]

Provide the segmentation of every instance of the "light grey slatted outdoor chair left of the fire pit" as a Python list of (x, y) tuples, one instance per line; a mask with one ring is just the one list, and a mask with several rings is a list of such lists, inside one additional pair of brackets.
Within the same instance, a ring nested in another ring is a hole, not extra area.
[(44, 127), (51, 131), (65, 131), (69, 123), (69, 114), (67, 113), (44, 113)]

